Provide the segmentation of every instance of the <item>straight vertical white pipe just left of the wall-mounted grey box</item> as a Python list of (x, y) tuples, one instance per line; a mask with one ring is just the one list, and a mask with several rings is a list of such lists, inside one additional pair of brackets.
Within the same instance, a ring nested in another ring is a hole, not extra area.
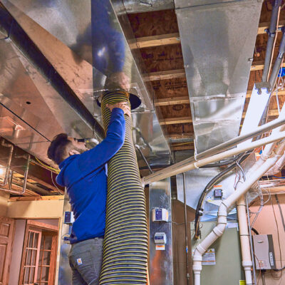
[(246, 284), (252, 283), (252, 257), (250, 254), (249, 229), (247, 227), (247, 211), (244, 195), (237, 202), (237, 217), (239, 219), (239, 239), (242, 248), (242, 266), (244, 267)]

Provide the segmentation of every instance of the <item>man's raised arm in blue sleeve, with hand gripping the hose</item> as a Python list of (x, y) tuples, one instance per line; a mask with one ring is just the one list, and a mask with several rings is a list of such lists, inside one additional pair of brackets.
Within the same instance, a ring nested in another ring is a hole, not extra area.
[(130, 115), (130, 108), (125, 103), (109, 105), (108, 108), (110, 108), (112, 113), (106, 138), (93, 149), (79, 155), (78, 167), (82, 172), (89, 173), (105, 165), (123, 146), (125, 140), (124, 113)]

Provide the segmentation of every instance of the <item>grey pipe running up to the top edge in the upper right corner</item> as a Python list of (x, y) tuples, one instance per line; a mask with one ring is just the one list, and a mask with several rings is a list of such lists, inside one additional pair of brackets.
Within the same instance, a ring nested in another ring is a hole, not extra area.
[[(267, 82), (268, 73), (269, 73), (269, 66), (271, 61), (271, 54), (273, 51), (274, 46), (274, 38), (276, 35), (276, 26), (277, 26), (277, 19), (279, 14), (279, 7), (281, 5), (281, 0), (275, 0), (274, 6), (272, 8), (272, 14), (271, 14), (271, 20), (270, 20), (270, 26), (268, 29), (268, 40), (266, 45), (266, 54), (265, 54), (265, 60), (264, 60), (264, 70), (262, 73), (262, 81)], [(273, 87), (273, 86), (272, 86)]]

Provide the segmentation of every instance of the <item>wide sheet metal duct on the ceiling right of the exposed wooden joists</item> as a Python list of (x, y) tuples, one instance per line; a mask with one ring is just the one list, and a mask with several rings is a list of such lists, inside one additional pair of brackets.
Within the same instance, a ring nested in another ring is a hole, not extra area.
[(196, 152), (238, 135), (260, 0), (175, 0)]

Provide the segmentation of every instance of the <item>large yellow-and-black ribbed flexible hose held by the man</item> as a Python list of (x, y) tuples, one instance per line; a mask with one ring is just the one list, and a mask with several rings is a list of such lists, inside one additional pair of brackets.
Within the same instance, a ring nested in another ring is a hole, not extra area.
[[(110, 122), (106, 104), (128, 102), (123, 91), (103, 94), (101, 108), (105, 131)], [(99, 284), (147, 283), (147, 218), (145, 194), (132, 140), (132, 122), (125, 115), (125, 142), (108, 162), (108, 195)]]

